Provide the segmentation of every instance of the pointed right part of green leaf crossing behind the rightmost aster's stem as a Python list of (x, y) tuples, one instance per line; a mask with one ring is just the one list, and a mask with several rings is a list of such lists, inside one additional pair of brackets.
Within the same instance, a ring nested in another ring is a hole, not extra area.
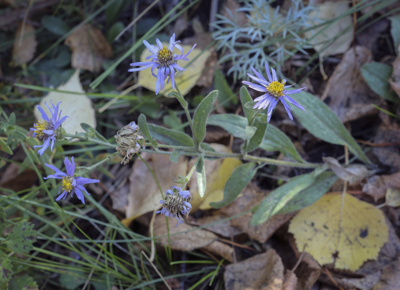
[(260, 144), (260, 148), (266, 151), (280, 151), (288, 158), (305, 162), (303, 158), (301, 158), (300, 154), (298, 154), (296, 147), (294, 147), (294, 144), (289, 137), (271, 124), (268, 124), (264, 139), (262, 139)]

